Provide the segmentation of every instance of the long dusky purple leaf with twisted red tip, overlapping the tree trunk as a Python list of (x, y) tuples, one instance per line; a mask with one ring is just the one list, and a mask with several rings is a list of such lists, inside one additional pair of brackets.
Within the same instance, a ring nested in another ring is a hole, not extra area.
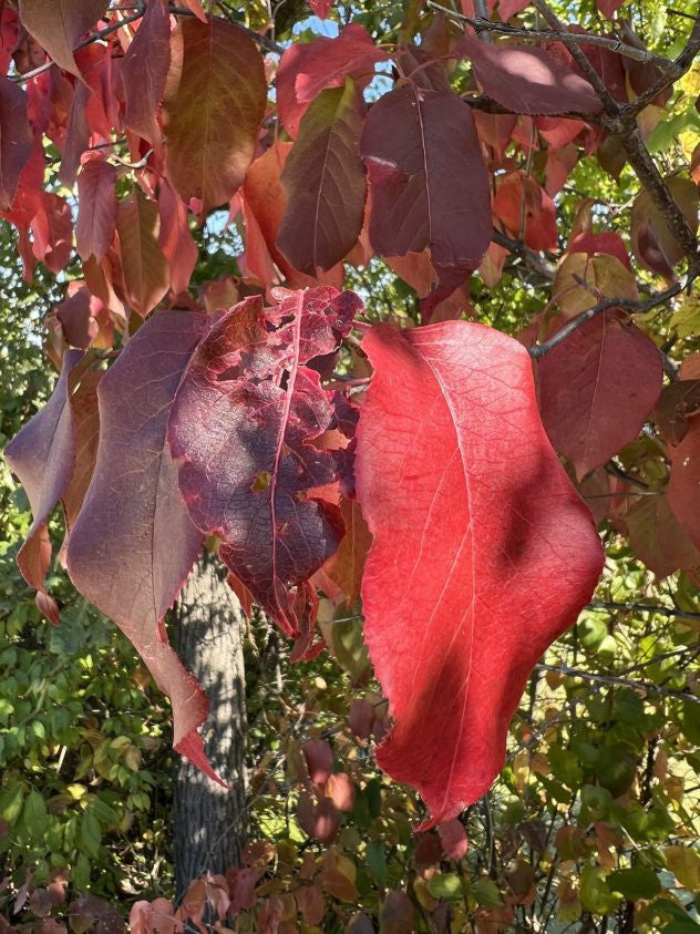
[(171, 698), (175, 749), (215, 778), (197, 733), (206, 697), (169, 647), (162, 623), (202, 545), (177, 490), (165, 431), (207, 324), (204, 315), (187, 311), (154, 315), (103, 377), (97, 463), (71, 533), (68, 571), (81, 594), (131, 639)]

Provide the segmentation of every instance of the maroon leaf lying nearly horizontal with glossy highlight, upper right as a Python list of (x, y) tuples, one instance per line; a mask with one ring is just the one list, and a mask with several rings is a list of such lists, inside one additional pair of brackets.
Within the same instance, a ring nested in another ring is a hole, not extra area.
[(451, 55), (464, 55), (485, 93), (515, 113), (598, 113), (593, 86), (544, 49), (482, 42), (466, 33)]

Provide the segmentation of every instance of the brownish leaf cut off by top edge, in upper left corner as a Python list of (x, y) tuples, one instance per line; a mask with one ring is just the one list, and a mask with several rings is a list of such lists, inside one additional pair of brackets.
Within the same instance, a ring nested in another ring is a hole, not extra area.
[(59, 68), (80, 78), (73, 50), (107, 6), (109, 0), (20, 0), (20, 19)]

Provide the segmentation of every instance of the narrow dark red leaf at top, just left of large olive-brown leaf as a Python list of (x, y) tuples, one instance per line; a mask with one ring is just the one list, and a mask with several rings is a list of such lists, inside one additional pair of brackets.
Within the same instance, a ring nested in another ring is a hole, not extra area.
[(171, 18), (165, 0), (148, 0), (146, 12), (122, 60), (124, 124), (154, 145), (156, 119), (171, 64)]

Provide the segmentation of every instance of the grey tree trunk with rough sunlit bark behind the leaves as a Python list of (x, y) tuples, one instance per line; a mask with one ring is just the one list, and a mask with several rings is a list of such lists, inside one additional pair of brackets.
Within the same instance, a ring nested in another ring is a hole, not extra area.
[(246, 694), (243, 612), (216, 560), (205, 552), (172, 614), (172, 642), (209, 697), (203, 727), (216, 784), (177, 756), (173, 786), (175, 885), (181, 897), (206, 870), (240, 864), (246, 832)]

